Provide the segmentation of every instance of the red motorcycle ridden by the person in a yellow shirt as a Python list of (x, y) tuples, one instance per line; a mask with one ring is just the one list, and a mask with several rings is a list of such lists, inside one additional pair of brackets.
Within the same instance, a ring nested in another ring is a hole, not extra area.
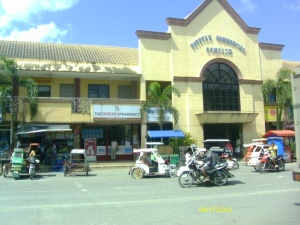
[(278, 155), (275, 159), (275, 166), (270, 158), (271, 154), (269, 151), (261, 152), (258, 157), (257, 171), (265, 173), (266, 171), (284, 171), (285, 164), (282, 155)]

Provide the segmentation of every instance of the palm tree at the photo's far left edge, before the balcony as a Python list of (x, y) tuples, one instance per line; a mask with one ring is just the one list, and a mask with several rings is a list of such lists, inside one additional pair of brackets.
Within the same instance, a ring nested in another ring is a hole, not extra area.
[[(0, 57), (0, 112), (5, 115), (7, 109), (11, 112), (10, 148), (14, 146), (14, 132), (18, 122), (19, 112), (19, 87), (27, 89), (26, 100), (29, 102), (30, 118), (37, 114), (38, 87), (31, 78), (21, 78), (18, 75), (18, 65), (14, 59)], [(21, 110), (25, 119), (26, 107)]]

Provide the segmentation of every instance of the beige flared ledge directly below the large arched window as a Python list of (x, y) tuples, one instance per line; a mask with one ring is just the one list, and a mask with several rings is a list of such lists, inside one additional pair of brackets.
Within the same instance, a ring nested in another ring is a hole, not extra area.
[(198, 113), (200, 123), (252, 123), (258, 113)]

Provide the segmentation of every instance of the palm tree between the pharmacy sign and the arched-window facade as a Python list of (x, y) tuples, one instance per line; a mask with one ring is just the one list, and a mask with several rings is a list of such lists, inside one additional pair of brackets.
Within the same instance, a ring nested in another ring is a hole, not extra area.
[(174, 85), (168, 85), (162, 88), (158, 82), (153, 82), (149, 85), (147, 94), (149, 100), (146, 101), (141, 107), (141, 115), (143, 116), (150, 108), (158, 108), (158, 125), (163, 129), (165, 121), (165, 113), (170, 112), (173, 115), (175, 124), (179, 120), (178, 110), (170, 104), (172, 94), (180, 97), (179, 90)]

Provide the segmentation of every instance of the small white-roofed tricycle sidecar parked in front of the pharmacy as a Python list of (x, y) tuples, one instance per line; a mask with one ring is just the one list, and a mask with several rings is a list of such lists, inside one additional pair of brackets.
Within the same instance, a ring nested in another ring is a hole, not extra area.
[(73, 149), (70, 153), (69, 161), (64, 164), (64, 175), (83, 173), (88, 176), (89, 170), (85, 149)]

